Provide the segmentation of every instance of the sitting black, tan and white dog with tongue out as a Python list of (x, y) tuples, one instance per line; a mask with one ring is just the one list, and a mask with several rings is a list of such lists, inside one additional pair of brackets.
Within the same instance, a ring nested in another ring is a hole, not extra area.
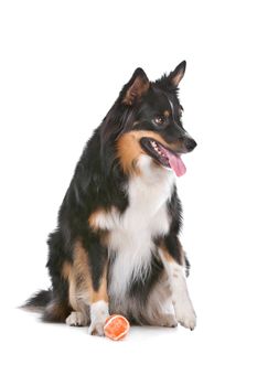
[(196, 146), (181, 121), (185, 66), (156, 82), (137, 68), (88, 140), (47, 240), (52, 287), (25, 303), (44, 321), (89, 325), (93, 335), (114, 313), (195, 328), (175, 185), (181, 154)]

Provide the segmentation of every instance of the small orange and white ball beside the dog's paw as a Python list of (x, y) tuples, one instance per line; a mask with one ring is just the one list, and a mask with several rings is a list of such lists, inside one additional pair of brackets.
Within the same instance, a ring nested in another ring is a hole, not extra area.
[(114, 314), (106, 319), (104, 332), (107, 337), (119, 341), (127, 335), (129, 329), (129, 321), (125, 317)]

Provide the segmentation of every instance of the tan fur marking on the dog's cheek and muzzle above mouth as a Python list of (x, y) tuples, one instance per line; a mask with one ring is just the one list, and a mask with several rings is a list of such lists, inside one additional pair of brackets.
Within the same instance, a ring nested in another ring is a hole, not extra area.
[(117, 153), (125, 173), (139, 174), (137, 161), (141, 154), (147, 154), (139, 143), (140, 139), (143, 137), (156, 139), (161, 144), (172, 150), (172, 144), (167, 143), (163, 138), (154, 131), (132, 130), (126, 132), (117, 140)]

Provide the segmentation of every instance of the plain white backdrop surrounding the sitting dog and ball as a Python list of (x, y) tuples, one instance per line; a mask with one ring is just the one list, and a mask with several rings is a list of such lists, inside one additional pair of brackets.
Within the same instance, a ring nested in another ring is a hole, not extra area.
[[(0, 4), (1, 384), (256, 385), (255, 1)], [(92, 130), (137, 66), (156, 79), (182, 60), (196, 330), (115, 343), (17, 310), (50, 283), (45, 239)]]

